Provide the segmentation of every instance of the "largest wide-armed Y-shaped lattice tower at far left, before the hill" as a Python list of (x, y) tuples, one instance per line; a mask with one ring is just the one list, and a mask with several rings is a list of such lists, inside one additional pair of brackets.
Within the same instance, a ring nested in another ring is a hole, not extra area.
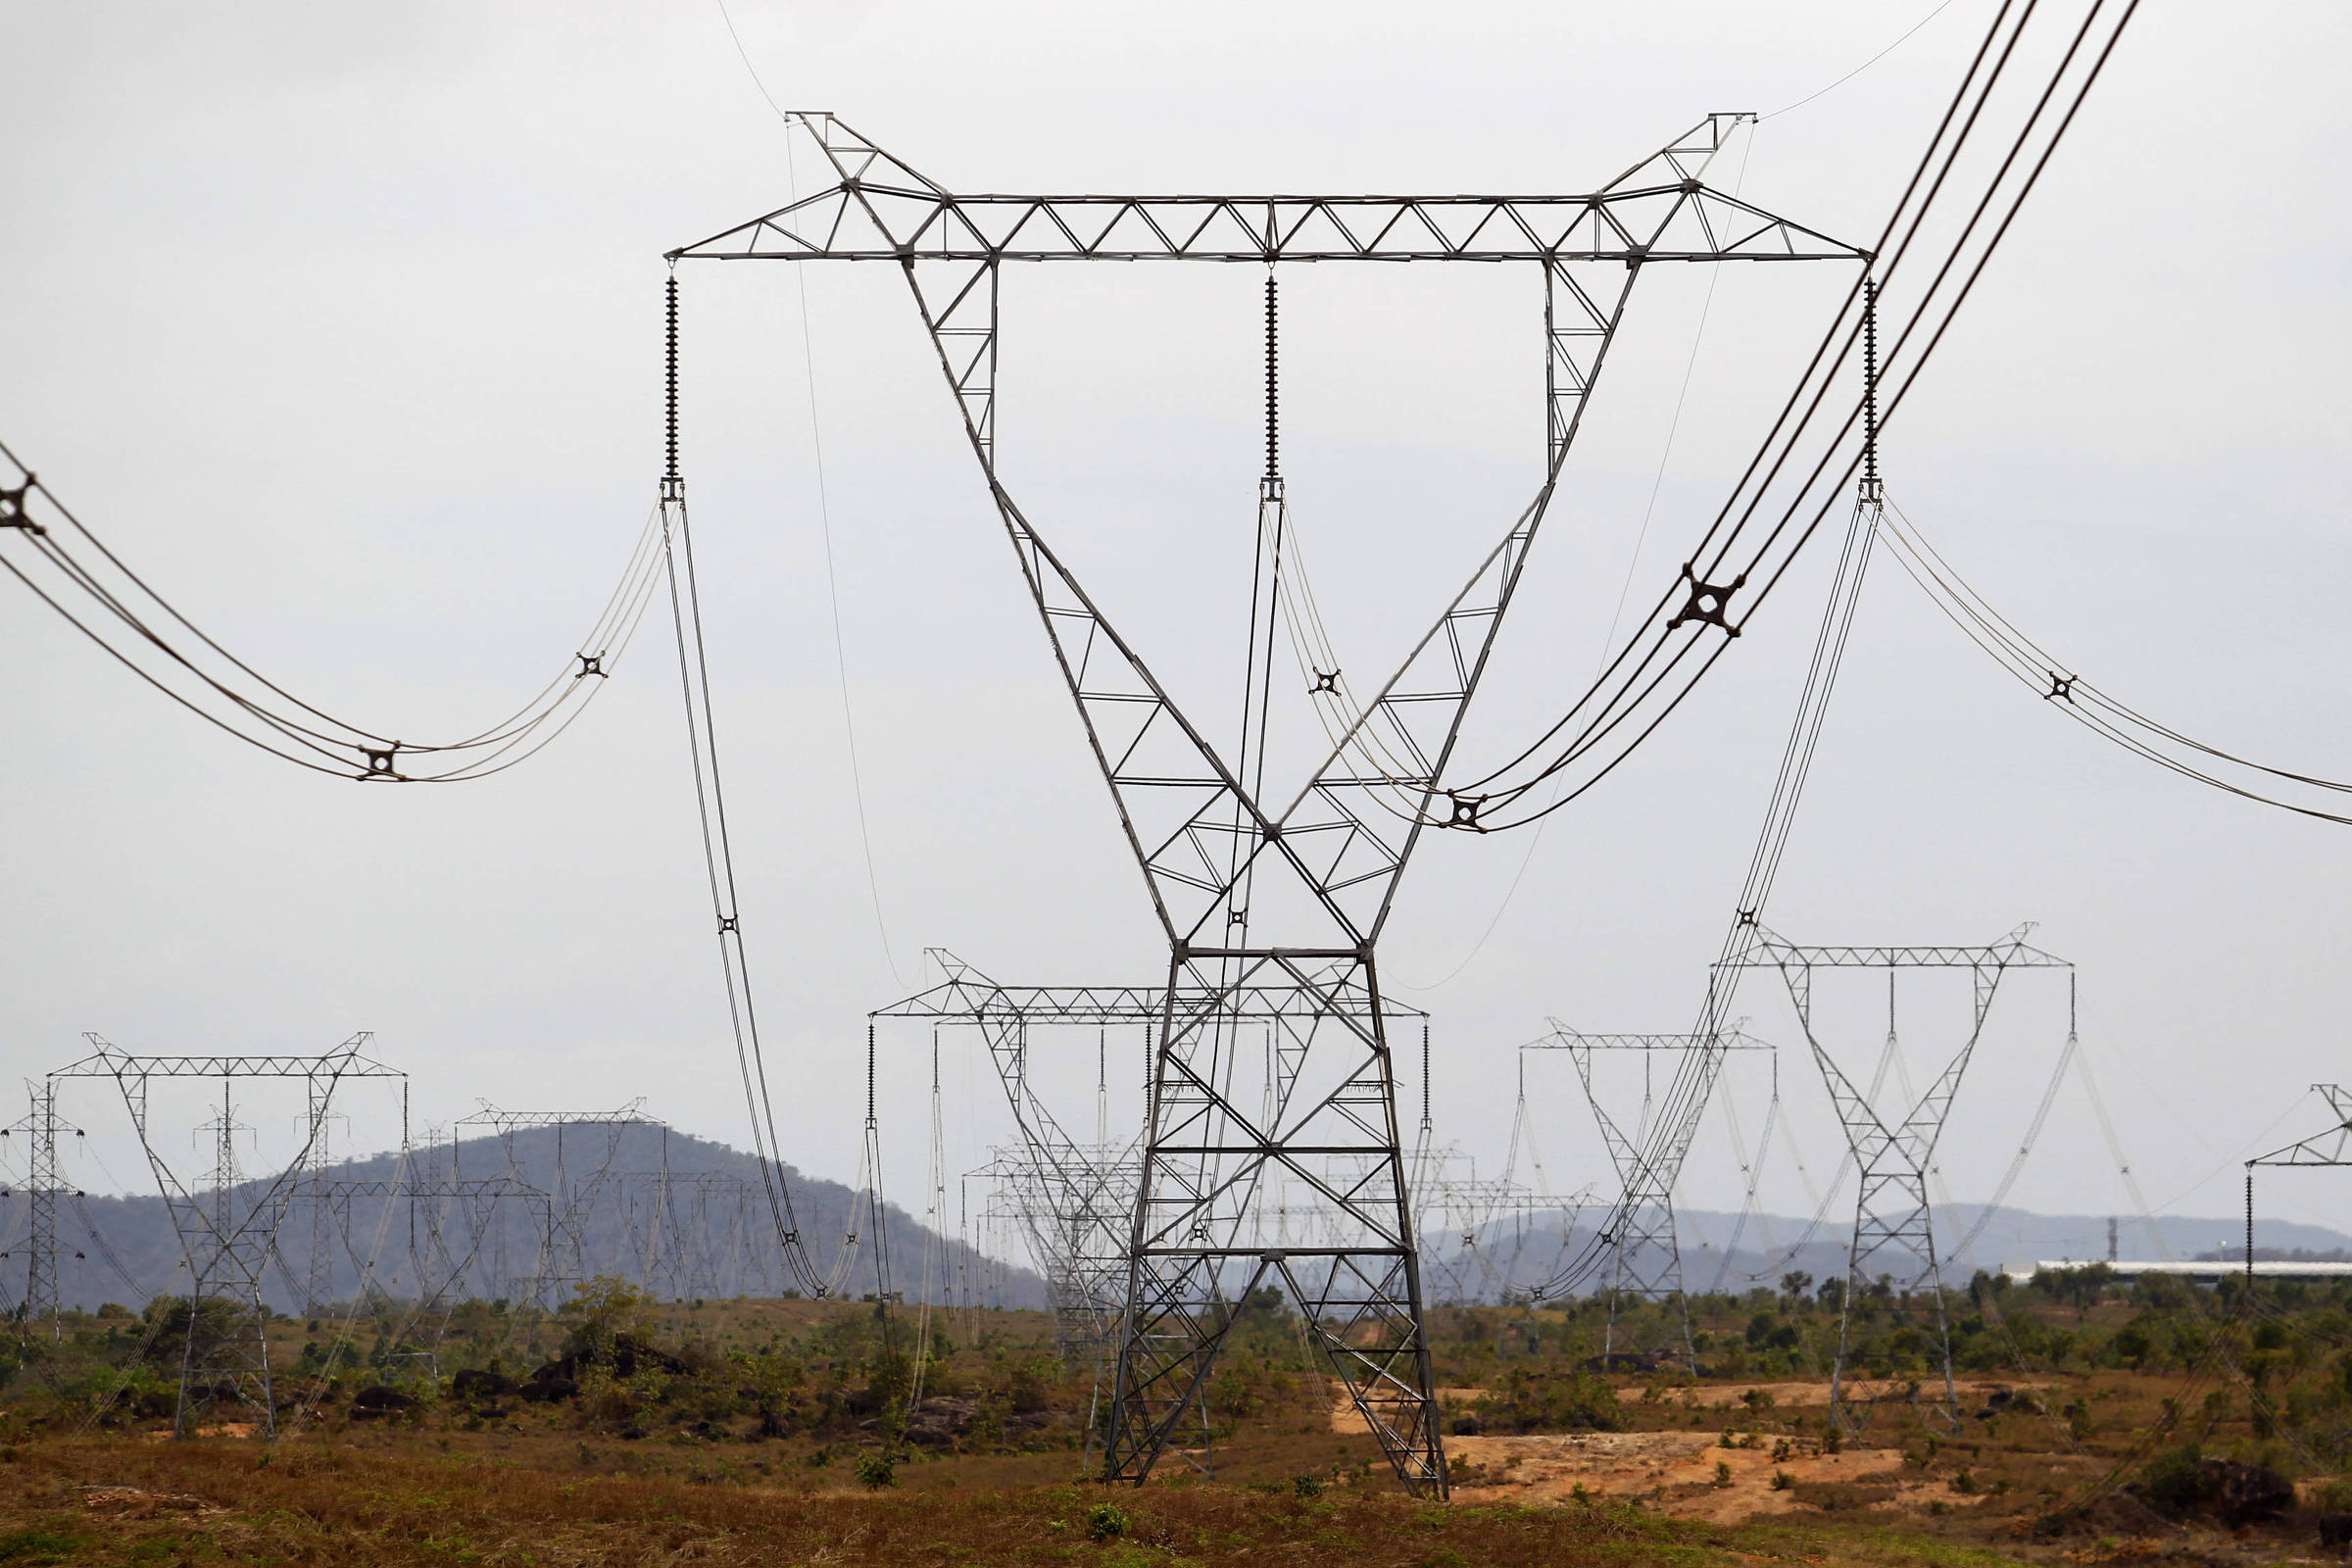
[[(263, 1434), (275, 1434), (278, 1408), (266, 1335), (270, 1312), (261, 1302), (261, 1274), (278, 1246), (287, 1201), (310, 1173), (310, 1150), (322, 1135), (336, 1086), (343, 1079), (407, 1079), (407, 1074), (360, 1056), (360, 1046), (372, 1039), (365, 1030), (325, 1056), (129, 1056), (96, 1034), (85, 1039), (92, 1053), (49, 1077), (115, 1081), (188, 1260), (188, 1345), (181, 1356), (179, 1415), (172, 1429), (188, 1436), (212, 1406), (238, 1401), (252, 1410)], [(155, 1079), (221, 1084), (221, 1110), (202, 1128), (214, 1135), (214, 1164), (195, 1187), (172, 1171), (148, 1124), (148, 1086)], [(238, 1175), (233, 1095), (240, 1079), (303, 1079), (308, 1091), (301, 1150), (287, 1168), (259, 1185), (259, 1192)]]

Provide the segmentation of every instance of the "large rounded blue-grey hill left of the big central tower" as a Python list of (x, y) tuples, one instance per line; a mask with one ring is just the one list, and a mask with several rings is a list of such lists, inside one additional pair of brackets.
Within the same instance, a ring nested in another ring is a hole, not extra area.
[[(419, 1154), (430, 1199), (388, 1199), (397, 1154), (329, 1168), (343, 1192), (332, 1206), (296, 1197), (278, 1225), (263, 1298), (299, 1312), (313, 1258), (325, 1258), (325, 1300), (348, 1300), (362, 1279), (395, 1298), (454, 1281), (454, 1295), (562, 1302), (576, 1279), (621, 1274), (666, 1298), (783, 1295), (795, 1279), (776, 1244), (760, 1161), (741, 1150), (659, 1126), (527, 1128), (510, 1140), (470, 1138)], [(821, 1269), (842, 1260), (856, 1194), (842, 1182), (783, 1168), (797, 1234)], [(374, 1185), (374, 1187), (372, 1187)], [(235, 1190), (247, 1213), (266, 1180)], [(569, 1194), (569, 1204), (536, 1194)], [(887, 1194), (884, 1194), (887, 1197)], [(887, 1288), (938, 1298), (948, 1269), (993, 1305), (1042, 1307), (1044, 1284), (1009, 1260), (962, 1258), (896, 1204), (880, 1237), (858, 1237), (840, 1291)], [(0, 1305), (24, 1293), (26, 1204), (0, 1204)], [(553, 1237), (553, 1246), (550, 1246)], [(188, 1267), (160, 1197), (87, 1197), (59, 1211), (59, 1295), (66, 1305), (139, 1305), (188, 1288)], [(924, 1286), (929, 1281), (929, 1288)]]

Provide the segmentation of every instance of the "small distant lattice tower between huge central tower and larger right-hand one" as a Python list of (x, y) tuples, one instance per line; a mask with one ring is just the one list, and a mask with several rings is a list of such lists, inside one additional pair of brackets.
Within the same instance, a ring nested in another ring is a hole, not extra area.
[[(1691, 1368), (1691, 1375), (1698, 1375), (1698, 1352), (1691, 1349), (1691, 1312), (1682, 1291), (1682, 1237), (1675, 1229), (1675, 1192), (1670, 1185), (1644, 1185), (1642, 1180), (1649, 1166), (1646, 1150), (1658, 1131), (1658, 1119), (1665, 1114), (1656, 1095), (1651, 1063), (1665, 1058), (1668, 1074), (1672, 1077), (1700, 1051), (1771, 1051), (1771, 1046), (1738, 1030), (1712, 1034), (1585, 1034), (1555, 1018), (1550, 1034), (1519, 1048), (1566, 1051), (1569, 1063), (1576, 1067), (1576, 1081), (1583, 1084), (1585, 1100), (1592, 1105), (1592, 1121), (1599, 1126), (1602, 1145), (1609, 1150), (1609, 1164), (1616, 1168), (1625, 1192), (1625, 1199), (1611, 1213), (1609, 1234), (1602, 1237), (1602, 1244), (1609, 1248), (1609, 1326), (1602, 1331), (1602, 1366), (1616, 1366), (1618, 1312), (1625, 1298), (1632, 1298), (1665, 1307), (1675, 1324), (1679, 1324), (1679, 1333), (1670, 1331), (1670, 1342), (1642, 1345), (1635, 1354), (1649, 1361), (1658, 1352), (1672, 1352), (1677, 1361)], [(1609, 1110), (1606, 1100), (1613, 1084), (1595, 1081), (1592, 1072), (1595, 1053), (1609, 1056), (1618, 1051), (1635, 1053), (1642, 1063), (1642, 1103), (1630, 1119), (1623, 1107), (1616, 1112)], [(1675, 1161), (1675, 1171), (1682, 1171), (1679, 1159)]]

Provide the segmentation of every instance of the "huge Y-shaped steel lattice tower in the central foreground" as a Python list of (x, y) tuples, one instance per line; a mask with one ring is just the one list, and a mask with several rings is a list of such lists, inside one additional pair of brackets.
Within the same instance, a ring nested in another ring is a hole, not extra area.
[[(1421, 830), (1486, 825), (1484, 797), (1449, 792), (1439, 776), (1635, 280), (1668, 261), (1851, 263), (1863, 254), (1700, 181), (1748, 115), (1708, 115), (1592, 195), (1536, 197), (955, 195), (833, 115), (793, 120), (816, 139), (835, 183), (670, 261), (901, 268), (1169, 940), (1105, 1476), (1145, 1479), (1200, 1399), (1235, 1302), (1272, 1281), (1298, 1305), (1404, 1486), (1442, 1495), (1378, 936)], [(1265, 776), (1289, 569), (1272, 275), (1242, 724), (1232, 743), (1216, 743), (997, 470), (1000, 270), (1049, 261), (1221, 261), (1270, 273), (1298, 261), (1489, 261), (1541, 275), (1545, 465), (1536, 498), (1369, 703), (1341, 679), (1336, 658), (1310, 672), (1308, 705), (1334, 745), (1296, 790), (1279, 780), (1270, 790)], [(682, 505), (680, 482), (666, 482), (666, 503)], [(1733, 588), (1693, 578), (1689, 616), (1722, 623)], [(1232, 1009), (1251, 987), (1310, 999), (1294, 1044), (1249, 1063), (1263, 1070), (1263, 1093), (1235, 1084)], [(1324, 1244), (1284, 1246), (1258, 1211), (1261, 1190), (1291, 1180), (1319, 1187), (1338, 1215)]]

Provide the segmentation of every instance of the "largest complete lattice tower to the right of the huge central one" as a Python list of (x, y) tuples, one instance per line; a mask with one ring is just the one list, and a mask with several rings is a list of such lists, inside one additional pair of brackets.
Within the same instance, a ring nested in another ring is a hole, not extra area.
[[(1872, 1272), (1889, 1276), (1886, 1284), (1896, 1302), (1907, 1305), (1912, 1295), (1922, 1293), (1929, 1298), (1933, 1307), (1931, 1345), (1936, 1363), (1943, 1368), (1943, 1403), (1947, 1415), (1959, 1420), (1959, 1392), (1952, 1385), (1952, 1335), (1943, 1309), (1943, 1274), (1936, 1260), (1926, 1180), (1936, 1161), (1936, 1143), (1943, 1138), (1952, 1100), (1959, 1095), (1959, 1079), (1969, 1070), (1969, 1058), (1976, 1056), (1976, 1041), (1985, 1034), (1985, 1016), (1992, 1011), (1992, 994), (2002, 978), (2011, 969), (2063, 969), (2067, 973), (2074, 969), (2067, 959), (2027, 945), (2027, 936), (2032, 936), (2030, 922), (1983, 947), (1799, 947), (1757, 926), (1755, 943), (1740, 961), (1745, 969), (1778, 969), (1788, 983), (1804, 1044), (1837, 1105), (1837, 1121), (1846, 1131), (1858, 1178), (1853, 1246), (1846, 1253), (1846, 1288), (1837, 1321), (1837, 1366), (1830, 1373), (1830, 1415), (1835, 1420), (1860, 1422), (1844, 1389), (1846, 1352), (1856, 1305), (1872, 1291)], [(1886, 971), (1886, 1046), (1867, 1088), (1856, 1084), (1813, 1030), (1816, 969)], [(1896, 1074), (1903, 1100), (1893, 1103), (1889, 1114), (1879, 1110), (1879, 1103), (1889, 1065), (1898, 1065), (1896, 971), (1905, 969), (1966, 969), (1973, 1009), (1969, 1034), (1924, 1093), (1912, 1098), (1907, 1074)]]

